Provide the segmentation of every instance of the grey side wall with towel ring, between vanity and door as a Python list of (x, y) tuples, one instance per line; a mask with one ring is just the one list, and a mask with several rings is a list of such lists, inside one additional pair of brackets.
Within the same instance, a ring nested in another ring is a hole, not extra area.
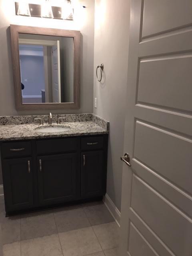
[(94, 71), (104, 64), (104, 81), (96, 80), (94, 112), (110, 121), (107, 194), (120, 210), (124, 118), (127, 90), (130, 0), (95, 1)]

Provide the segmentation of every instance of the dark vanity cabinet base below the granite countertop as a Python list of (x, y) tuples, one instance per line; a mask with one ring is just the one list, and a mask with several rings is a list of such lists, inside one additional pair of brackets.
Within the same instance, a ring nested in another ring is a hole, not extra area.
[(6, 213), (106, 193), (108, 135), (2, 142)]

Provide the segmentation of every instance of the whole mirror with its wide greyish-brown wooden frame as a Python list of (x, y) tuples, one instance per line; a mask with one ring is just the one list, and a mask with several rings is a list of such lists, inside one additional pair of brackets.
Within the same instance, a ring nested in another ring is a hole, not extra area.
[(10, 25), (17, 110), (80, 108), (80, 31)]

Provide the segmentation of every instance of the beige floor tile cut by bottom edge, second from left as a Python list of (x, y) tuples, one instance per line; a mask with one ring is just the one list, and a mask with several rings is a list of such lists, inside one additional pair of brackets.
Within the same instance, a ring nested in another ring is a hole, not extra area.
[(21, 241), (21, 256), (63, 256), (58, 234)]

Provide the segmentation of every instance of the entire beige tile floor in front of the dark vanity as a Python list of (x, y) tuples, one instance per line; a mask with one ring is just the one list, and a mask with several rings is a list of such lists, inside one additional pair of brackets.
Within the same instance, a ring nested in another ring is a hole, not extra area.
[(119, 227), (102, 202), (4, 217), (3, 256), (118, 256)]

